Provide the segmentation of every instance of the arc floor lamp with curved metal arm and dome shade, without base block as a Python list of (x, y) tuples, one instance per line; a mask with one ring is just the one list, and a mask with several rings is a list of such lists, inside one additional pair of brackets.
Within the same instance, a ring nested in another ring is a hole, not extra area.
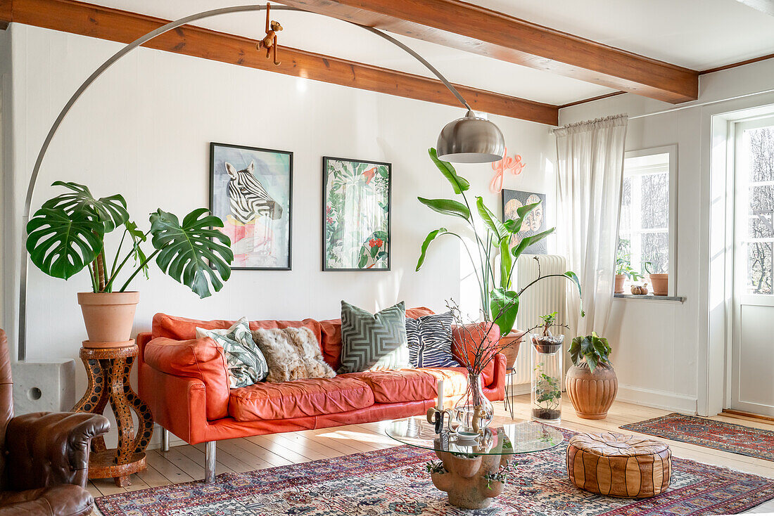
[[(168, 32), (172, 29), (176, 29), (179, 26), (186, 23), (195, 22), (200, 19), (211, 18), (212, 16), (224, 15), (231, 12), (248, 12), (248, 11), (262, 11), (266, 9), (265, 5), (235, 5), (233, 7), (224, 7), (222, 9), (212, 9), (210, 11), (198, 12), (197, 14), (189, 15), (184, 18), (176, 19), (173, 22), (169, 22), (166, 25), (160, 26), (158, 29), (148, 32), (145, 36), (141, 36), (138, 39), (132, 41), (127, 46), (118, 50), (113, 56), (100, 65), (84, 83), (78, 87), (77, 91), (70, 97), (67, 104), (64, 104), (59, 116), (53, 122), (53, 125), (49, 129), (46, 139), (43, 140), (43, 146), (41, 146), (38, 152), (38, 157), (33, 167), (32, 176), (29, 178), (29, 186), (27, 186), (27, 195), (24, 202), (24, 212), (22, 216), (22, 235), (26, 234), (27, 222), (29, 221), (29, 210), (33, 200), (33, 191), (35, 190), (35, 183), (38, 178), (40, 166), (43, 163), (43, 157), (46, 155), (46, 151), (49, 148), (53, 136), (57, 133), (57, 129), (62, 124), (62, 121), (67, 116), (70, 108), (78, 101), (84, 91), (97, 80), (98, 77), (108, 70), (118, 60), (121, 60), (123, 56), (135, 50), (138, 46), (149, 42), (151, 39)], [(272, 9), (275, 11), (300, 11), (310, 12), (304, 9), (298, 9), (295, 7), (288, 7), (286, 5), (272, 5)], [(389, 36), (381, 30), (374, 29), (373, 27), (363, 26), (358, 23), (349, 22), (354, 26), (358, 26), (361, 29), (368, 30), (377, 36), (386, 39), (393, 45), (399, 46), (402, 50), (405, 50), (416, 60), (422, 63), (430, 72), (433, 73), (449, 91), (457, 97), (457, 100), (467, 108), (467, 113), (462, 118), (450, 121), (440, 132), (437, 142), (438, 157), (444, 161), (449, 162), (464, 162), (464, 163), (485, 163), (495, 162), (502, 159), (502, 155), (505, 152), (505, 140), (502, 137), (500, 129), (491, 121), (485, 118), (477, 117), (470, 104), (462, 97), (453, 84), (451, 84), (446, 77), (444, 77), (438, 70), (428, 63), (422, 56), (411, 50), (408, 46), (401, 43), (399, 40)], [(28, 255), (24, 245), (22, 245), (22, 267), (19, 280), (19, 361), (26, 360), (26, 300), (27, 300), (27, 266)]]

